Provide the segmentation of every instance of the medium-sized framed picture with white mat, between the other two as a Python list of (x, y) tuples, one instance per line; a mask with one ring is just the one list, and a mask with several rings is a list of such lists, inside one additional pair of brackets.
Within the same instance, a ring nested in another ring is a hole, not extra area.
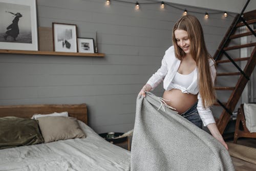
[(77, 52), (77, 27), (72, 24), (52, 23), (55, 52)]

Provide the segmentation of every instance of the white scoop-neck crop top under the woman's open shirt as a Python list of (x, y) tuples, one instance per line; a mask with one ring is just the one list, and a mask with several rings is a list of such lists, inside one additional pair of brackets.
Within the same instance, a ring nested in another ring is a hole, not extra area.
[(179, 72), (177, 72), (174, 76), (172, 83), (178, 84), (179, 86), (187, 89), (192, 83), (195, 73), (196, 73), (196, 69), (192, 71), (190, 74), (186, 74), (186, 75), (180, 74)]

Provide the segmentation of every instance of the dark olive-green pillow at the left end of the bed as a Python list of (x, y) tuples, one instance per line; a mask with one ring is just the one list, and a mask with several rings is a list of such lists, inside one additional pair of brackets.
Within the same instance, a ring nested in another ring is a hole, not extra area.
[(0, 118), (0, 149), (44, 142), (38, 121), (13, 116)]

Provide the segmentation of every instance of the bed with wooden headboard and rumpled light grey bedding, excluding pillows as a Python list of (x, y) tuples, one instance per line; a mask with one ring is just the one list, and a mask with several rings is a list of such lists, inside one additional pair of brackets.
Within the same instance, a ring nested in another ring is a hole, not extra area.
[(86, 138), (0, 149), (0, 170), (130, 170), (130, 152), (105, 141), (87, 125), (86, 104), (6, 105), (0, 117), (67, 111)]

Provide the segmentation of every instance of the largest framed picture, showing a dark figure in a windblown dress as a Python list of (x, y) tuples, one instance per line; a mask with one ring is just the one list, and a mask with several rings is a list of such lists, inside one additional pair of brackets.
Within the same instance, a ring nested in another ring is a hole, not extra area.
[(0, 49), (38, 50), (36, 0), (0, 0)]

